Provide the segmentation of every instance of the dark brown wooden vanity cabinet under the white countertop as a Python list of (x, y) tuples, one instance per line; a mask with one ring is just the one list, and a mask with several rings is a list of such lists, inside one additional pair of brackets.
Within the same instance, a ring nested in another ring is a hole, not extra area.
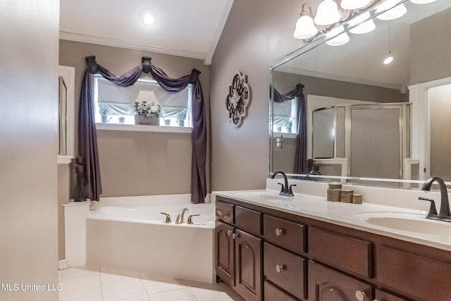
[(216, 197), (216, 274), (245, 300), (451, 301), (451, 252)]

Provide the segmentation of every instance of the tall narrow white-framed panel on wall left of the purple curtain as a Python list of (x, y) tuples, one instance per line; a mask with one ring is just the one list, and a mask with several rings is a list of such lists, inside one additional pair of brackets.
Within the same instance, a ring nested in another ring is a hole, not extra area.
[(58, 67), (58, 163), (68, 164), (74, 156), (75, 68)]

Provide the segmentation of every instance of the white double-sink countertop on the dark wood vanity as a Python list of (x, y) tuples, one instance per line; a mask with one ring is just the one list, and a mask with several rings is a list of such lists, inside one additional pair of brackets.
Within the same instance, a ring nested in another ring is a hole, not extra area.
[[(278, 195), (278, 190), (271, 189), (220, 191), (213, 192), (213, 194), (236, 199), (247, 204), (451, 251), (451, 223), (426, 219), (427, 212), (422, 210), (370, 202), (363, 204), (328, 202), (326, 197), (296, 192), (295, 197), (283, 197)], [(402, 216), (406, 216), (407, 219), (418, 220), (421, 232), (412, 231), (410, 228), (402, 230), (400, 228), (389, 228), (390, 226), (385, 226), (385, 224), (378, 226), (365, 221), (365, 217), (375, 217), (385, 223), (386, 219), (381, 219), (382, 217)], [(436, 230), (436, 228), (439, 230)]]

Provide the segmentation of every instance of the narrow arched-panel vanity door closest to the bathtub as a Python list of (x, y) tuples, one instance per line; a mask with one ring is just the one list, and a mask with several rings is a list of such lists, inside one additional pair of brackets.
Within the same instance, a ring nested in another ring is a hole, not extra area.
[(216, 274), (221, 279), (235, 285), (235, 245), (232, 226), (216, 221)]

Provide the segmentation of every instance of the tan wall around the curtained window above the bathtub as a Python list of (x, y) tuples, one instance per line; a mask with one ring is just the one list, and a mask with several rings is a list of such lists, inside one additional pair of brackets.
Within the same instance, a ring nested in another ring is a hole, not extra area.
[[(210, 68), (204, 66), (203, 61), (61, 40), (59, 63), (75, 67), (77, 115), (85, 56), (92, 55), (96, 56), (97, 63), (116, 75), (139, 65), (142, 56), (152, 56), (152, 63), (173, 78), (190, 74), (192, 68), (201, 70), (199, 78), (208, 115)], [(190, 134), (97, 130), (97, 140), (103, 188), (101, 197), (190, 193)]]

